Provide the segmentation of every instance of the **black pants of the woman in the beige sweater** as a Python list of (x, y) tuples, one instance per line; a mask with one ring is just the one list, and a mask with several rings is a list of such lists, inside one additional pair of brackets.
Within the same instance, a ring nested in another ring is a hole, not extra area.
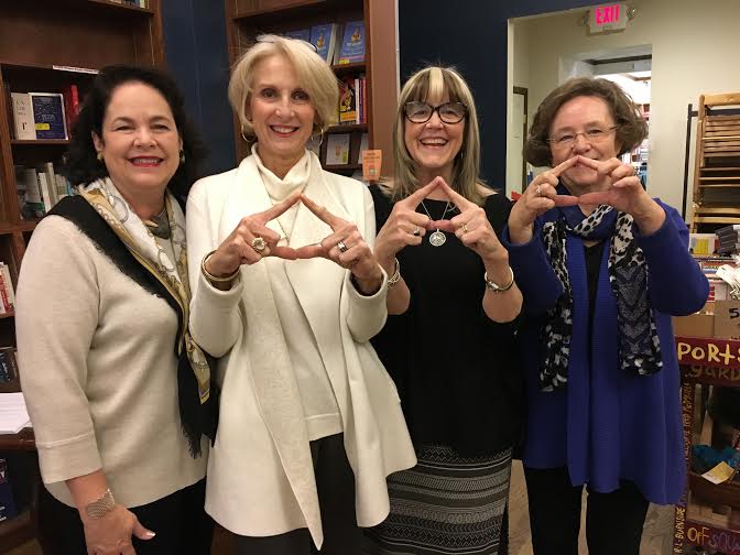
[[(39, 527), (48, 555), (86, 555), (85, 532), (77, 509), (57, 501), (41, 487)], [(214, 521), (206, 514), (206, 480), (152, 503), (129, 509), (156, 535), (146, 541), (132, 537), (137, 555), (208, 555)], [(47, 551), (48, 546), (48, 551)]]

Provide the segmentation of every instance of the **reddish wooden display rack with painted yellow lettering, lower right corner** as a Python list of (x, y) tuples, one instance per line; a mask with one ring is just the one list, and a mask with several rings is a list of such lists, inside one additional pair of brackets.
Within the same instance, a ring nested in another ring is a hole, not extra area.
[[(694, 439), (697, 387), (720, 385), (740, 388), (740, 341), (699, 337), (676, 337), (682, 374), (682, 406), (684, 423), (684, 455), (688, 480), (681, 502), (676, 504), (673, 553), (684, 553), (684, 546), (711, 547), (727, 555), (740, 555), (740, 526), (722, 527), (696, 514), (697, 503), (722, 505), (730, 512), (740, 512), (740, 483), (728, 481), (714, 485), (690, 471)], [(705, 395), (706, 399), (706, 395)]]

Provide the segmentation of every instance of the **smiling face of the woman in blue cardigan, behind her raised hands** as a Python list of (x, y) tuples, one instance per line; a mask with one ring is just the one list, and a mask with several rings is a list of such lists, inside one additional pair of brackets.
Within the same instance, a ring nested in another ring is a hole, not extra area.
[[(556, 145), (551, 142), (553, 167), (573, 156), (580, 154), (592, 160), (616, 157), (620, 145), (611, 128), (616, 126), (609, 105), (600, 97), (579, 96), (561, 106), (549, 126), (551, 141), (564, 134), (576, 135), (572, 145)], [(599, 139), (587, 139), (586, 134), (594, 130), (609, 130)], [(562, 182), (574, 195), (592, 191), (598, 182), (595, 170), (576, 165), (562, 175)]]

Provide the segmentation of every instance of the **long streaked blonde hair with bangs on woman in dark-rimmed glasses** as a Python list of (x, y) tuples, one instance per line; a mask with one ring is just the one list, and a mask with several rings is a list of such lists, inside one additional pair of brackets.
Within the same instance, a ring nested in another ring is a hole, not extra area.
[[(460, 152), (453, 163), (451, 183), (448, 185), (468, 200), (478, 205), (485, 203), (485, 197), (478, 189), (482, 185), (480, 173), (480, 132), (478, 131), (478, 115), (476, 104), (468, 84), (453, 67), (429, 66), (412, 75), (401, 90), (399, 109), (393, 124), (393, 153), (395, 177), (392, 182), (382, 184), (385, 193), (399, 200), (411, 195), (420, 183), (415, 175), (417, 166), (409, 153), (405, 141), (406, 102), (427, 101), (428, 98), (444, 98), (447, 95), (450, 102), (461, 102), (468, 109), (463, 134)], [(424, 184), (422, 184), (424, 185)]]

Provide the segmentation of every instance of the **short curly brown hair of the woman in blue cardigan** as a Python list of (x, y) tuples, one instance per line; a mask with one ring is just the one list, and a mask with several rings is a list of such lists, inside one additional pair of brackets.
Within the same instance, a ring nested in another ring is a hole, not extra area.
[(524, 159), (534, 166), (549, 166), (549, 127), (561, 107), (579, 96), (601, 98), (617, 122), (616, 140), (621, 145), (619, 155), (632, 151), (648, 137), (648, 124), (634, 101), (619, 85), (597, 77), (577, 77), (554, 89), (542, 101), (534, 115), (530, 134), (524, 144)]

